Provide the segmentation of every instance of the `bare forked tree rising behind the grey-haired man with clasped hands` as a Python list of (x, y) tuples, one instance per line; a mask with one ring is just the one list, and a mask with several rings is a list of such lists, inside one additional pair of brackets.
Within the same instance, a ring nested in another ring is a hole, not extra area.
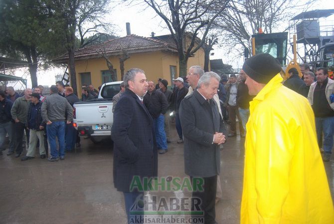
[(166, 23), (178, 51), (179, 76), (185, 76), (188, 58), (202, 47), (210, 26), (224, 11), (229, 0), (140, 1), (153, 8)]

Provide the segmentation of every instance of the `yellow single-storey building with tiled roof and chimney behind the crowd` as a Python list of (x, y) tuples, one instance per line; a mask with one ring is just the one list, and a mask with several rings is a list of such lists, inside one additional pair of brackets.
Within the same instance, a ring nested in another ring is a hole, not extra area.
[[(178, 54), (176, 45), (166, 39), (142, 37), (130, 34), (124, 37), (110, 39), (101, 44), (80, 48), (75, 52), (75, 70), (77, 75), (78, 92), (82, 84), (93, 84), (98, 87), (106, 82), (120, 81), (120, 60), (124, 51), (130, 56), (124, 62), (124, 71), (137, 67), (145, 71), (148, 80), (157, 83), (163, 78), (171, 85), (171, 80), (178, 77)], [(112, 77), (108, 69), (106, 55), (112, 62), (117, 77)], [(68, 63), (68, 55), (62, 55), (53, 60), (54, 63)], [(188, 59), (188, 67), (204, 66), (204, 50), (200, 48), (195, 55)]]

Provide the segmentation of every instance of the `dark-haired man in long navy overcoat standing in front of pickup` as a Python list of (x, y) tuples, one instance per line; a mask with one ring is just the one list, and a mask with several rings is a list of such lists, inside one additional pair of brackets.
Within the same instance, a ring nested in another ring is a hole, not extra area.
[[(158, 175), (158, 151), (153, 119), (143, 104), (148, 82), (142, 69), (132, 68), (124, 75), (125, 92), (114, 112), (111, 136), (114, 140), (114, 185), (123, 192), (130, 221), (130, 208), (143, 192), (130, 191), (133, 178)], [(130, 223), (130, 222), (129, 222)]]

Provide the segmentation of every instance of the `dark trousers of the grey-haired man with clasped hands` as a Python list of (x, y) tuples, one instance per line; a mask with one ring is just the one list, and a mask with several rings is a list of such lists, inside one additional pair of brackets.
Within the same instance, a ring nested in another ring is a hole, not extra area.
[[(190, 177), (192, 183), (192, 177)], [(192, 192), (192, 198), (200, 199), (200, 210), (204, 212), (204, 224), (214, 224), (216, 218), (215, 203), (217, 176), (204, 177), (204, 191)], [(193, 218), (195, 218), (194, 216)]]

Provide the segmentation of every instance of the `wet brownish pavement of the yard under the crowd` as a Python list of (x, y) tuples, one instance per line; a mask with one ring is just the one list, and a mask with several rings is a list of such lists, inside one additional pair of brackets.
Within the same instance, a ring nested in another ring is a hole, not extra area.
[[(176, 136), (176, 134), (175, 134)], [(160, 177), (186, 177), (183, 144), (176, 137), (159, 155)], [(239, 224), (243, 180), (244, 139), (228, 138), (221, 151), (223, 198), (216, 205), (219, 224)], [(113, 186), (111, 141), (81, 141), (81, 149), (65, 160), (21, 162), (0, 156), (0, 224), (126, 224), (123, 195)], [(334, 156), (325, 163), (334, 197)], [(153, 192), (160, 197), (189, 196), (189, 192)]]

